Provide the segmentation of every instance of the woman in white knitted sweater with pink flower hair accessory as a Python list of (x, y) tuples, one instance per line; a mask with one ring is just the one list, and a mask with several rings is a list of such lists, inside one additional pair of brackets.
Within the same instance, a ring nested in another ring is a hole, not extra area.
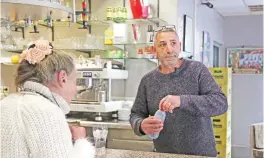
[(69, 128), (65, 118), (76, 92), (74, 60), (52, 48), (38, 40), (20, 55), (20, 92), (1, 101), (2, 158), (94, 157), (85, 129)]

